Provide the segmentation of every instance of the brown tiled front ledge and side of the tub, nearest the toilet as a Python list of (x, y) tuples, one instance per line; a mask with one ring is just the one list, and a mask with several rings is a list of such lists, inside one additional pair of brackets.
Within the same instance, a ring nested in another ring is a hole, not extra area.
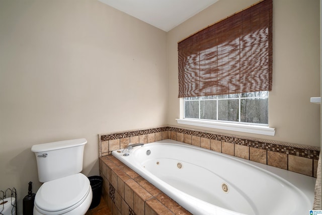
[(112, 214), (191, 214), (112, 155), (99, 160), (103, 197)]

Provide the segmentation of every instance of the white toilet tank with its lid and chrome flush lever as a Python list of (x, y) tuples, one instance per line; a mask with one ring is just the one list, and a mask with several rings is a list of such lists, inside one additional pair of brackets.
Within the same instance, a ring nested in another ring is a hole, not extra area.
[(34, 145), (38, 179), (40, 182), (51, 181), (83, 170), (85, 138), (70, 139), (47, 144)]

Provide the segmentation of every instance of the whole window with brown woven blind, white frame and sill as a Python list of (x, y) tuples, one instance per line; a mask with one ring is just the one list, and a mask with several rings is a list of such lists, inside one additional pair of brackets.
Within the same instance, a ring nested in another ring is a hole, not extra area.
[(274, 135), (268, 127), (273, 0), (179, 41), (178, 71), (178, 123)]

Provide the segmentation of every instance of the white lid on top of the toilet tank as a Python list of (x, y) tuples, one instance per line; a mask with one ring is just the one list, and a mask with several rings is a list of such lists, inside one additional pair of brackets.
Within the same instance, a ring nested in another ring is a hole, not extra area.
[(31, 147), (32, 152), (46, 152), (70, 147), (77, 147), (87, 144), (85, 138), (69, 139), (56, 142), (48, 142), (47, 144), (38, 144)]

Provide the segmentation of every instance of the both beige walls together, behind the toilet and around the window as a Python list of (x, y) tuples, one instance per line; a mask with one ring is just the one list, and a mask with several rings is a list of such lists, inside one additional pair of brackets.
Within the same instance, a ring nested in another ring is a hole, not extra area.
[[(220, 0), (166, 33), (96, 0), (0, 0), (0, 190), (16, 187), (22, 211), (40, 186), (34, 144), (85, 137), (97, 175), (98, 133), (178, 125), (177, 42), (255, 2)], [(318, 8), (274, 1), (276, 135), (235, 134), (319, 146)]]

